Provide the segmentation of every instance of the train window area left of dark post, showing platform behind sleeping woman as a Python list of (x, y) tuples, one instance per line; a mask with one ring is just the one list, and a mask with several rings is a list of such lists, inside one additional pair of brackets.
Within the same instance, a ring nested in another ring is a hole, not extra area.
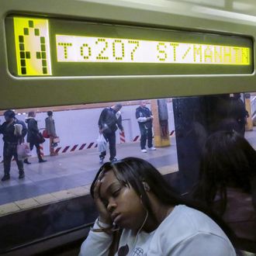
[[(141, 157), (162, 175), (178, 171), (171, 99), (10, 109), (0, 119), (0, 223), (29, 234), (3, 237), (3, 250), (92, 223), (89, 188), (107, 161)], [(26, 218), (29, 227), (17, 223)]]

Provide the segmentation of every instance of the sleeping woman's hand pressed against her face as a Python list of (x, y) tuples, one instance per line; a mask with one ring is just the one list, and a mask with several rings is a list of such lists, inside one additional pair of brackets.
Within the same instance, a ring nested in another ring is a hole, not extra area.
[(102, 199), (100, 198), (100, 195), (99, 195), (99, 189), (101, 185), (102, 185), (102, 182), (99, 179), (95, 183), (95, 187), (93, 190), (95, 205), (99, 212), (99, 221), (102, 223), (112, 225), (112, 219), (109, 214), (109, 211), (107, 210), (106, 205), (102, 202)]

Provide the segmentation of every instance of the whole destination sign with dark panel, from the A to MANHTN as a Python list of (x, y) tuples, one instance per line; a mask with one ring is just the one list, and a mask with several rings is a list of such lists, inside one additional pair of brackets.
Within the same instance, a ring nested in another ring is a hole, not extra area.
[(247, 37), (68, 19), (5, 19), (16, 76), (250, 74)]

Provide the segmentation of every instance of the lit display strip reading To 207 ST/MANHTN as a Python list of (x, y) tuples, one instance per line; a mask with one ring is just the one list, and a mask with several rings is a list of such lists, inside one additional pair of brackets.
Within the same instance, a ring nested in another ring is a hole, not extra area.
[(89, 36), (56, 36), (57, 61), (250, 64), (249, 47)]

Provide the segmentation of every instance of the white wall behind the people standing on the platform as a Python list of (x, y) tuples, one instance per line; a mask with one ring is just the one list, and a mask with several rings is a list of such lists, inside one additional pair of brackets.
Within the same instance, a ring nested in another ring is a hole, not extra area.
[[(147, 107), (150, 108), (150, 105)], [(136, 109), (137, 106), (123, 106), (121, 109), (126, 142), (131, 142), (135, 137), (140, 136), (139, 126), (135, 118)], [(58, 144), (58, 147), (61, 147), (59, 153), (61, 153), (65, 147), (68, 147), (67, 152), (70, 152), (75, 145), (78, 145), (75, 150), (78, 150), (82, 144), (86, 144), (83, 149), (87, 149), (90, 144), (92, 144), (92, 147), (95, 147), (96, 139), (99, 134), (98, 120), (101, 112), (102, 109), (78, 109), (54, 112), (57, 136), (61, 138), (61, 142)], [(171, 133), (171, 130), (175, 130), (171, 102), (168, 102), (168, 116), (169, 131)], [(22, 121), (26, 119), (26, 115), (16, 115), (16, 117)], [(46, 117), (46, 112), (36, 114), (38, 127), (41, 131), (45, 127), (44, 119), (46, 119)], [(4, 116), (0, 116), (0, 120), (1, 123), (3, 123), (5, 121)], [(0, 135), (0, 137), (0, 161), (2, 161), (2, 135)], [(119, 130), (116, 131), (116, 143), (120, 143)], [(43, 154), (50, 154), (49, 140), (46, 140), (43, 144)], [(36, 156), (35, 148), (32, 151), (32, 156)]]

